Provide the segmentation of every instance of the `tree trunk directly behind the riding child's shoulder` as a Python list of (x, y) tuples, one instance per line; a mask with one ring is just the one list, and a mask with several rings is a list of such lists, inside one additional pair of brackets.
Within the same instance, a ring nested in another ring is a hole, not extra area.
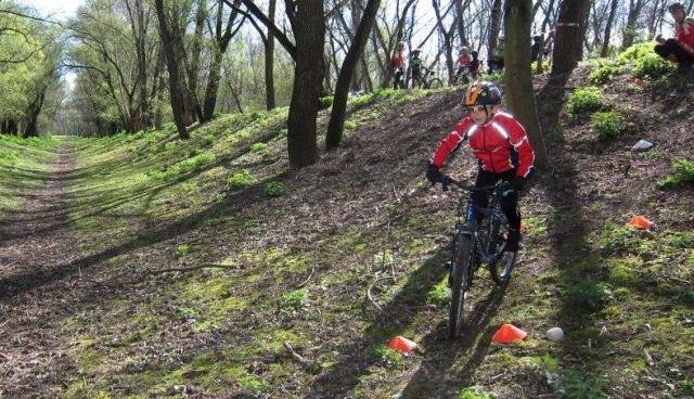
[(527, 38), (530, 37), (531, 22), (531, 0), (506, 1), (504, 7), (506, 103), (525, 127), (535, 150), (535, 167), (542, 172), (547, 170), (548, 160), (530, 73), (530, 44)]

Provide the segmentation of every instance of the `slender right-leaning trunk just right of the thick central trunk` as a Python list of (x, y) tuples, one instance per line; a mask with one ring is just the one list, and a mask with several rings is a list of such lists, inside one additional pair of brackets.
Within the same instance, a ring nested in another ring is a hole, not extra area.
[(369, 0), (364, 15), (359, 22), (355, 38), (349, 46), (343, 66), (339, 68), (337, 85), (335, 87), (335, 98), (333, 99), (333, 108), (327, 125), (327, 133), (325, 136), (325, 149), (333, 150), (339, 145), (343, 139), (345, 128), (345, 112), (347, 110), (347, 92), (349, 91), (349, 82), (357, 68), (357, 63), (361, 57), (369, 33), (376, 20), (376, 12), (381, 5), (381, 0)]

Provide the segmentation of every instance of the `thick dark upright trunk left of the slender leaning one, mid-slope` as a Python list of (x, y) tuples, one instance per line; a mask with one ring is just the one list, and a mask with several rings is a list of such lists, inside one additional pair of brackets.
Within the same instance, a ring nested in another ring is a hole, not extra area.
[[(160, 1), (160, 0), (158, 0)], [(296, 4), (296, 68), (287, 118), (290, 167), (297, 169), (318, 160), (316, 125), (324, 73), (325, 15), (323, 0)], [(294, 16), (294, 10), (287, 10)]]

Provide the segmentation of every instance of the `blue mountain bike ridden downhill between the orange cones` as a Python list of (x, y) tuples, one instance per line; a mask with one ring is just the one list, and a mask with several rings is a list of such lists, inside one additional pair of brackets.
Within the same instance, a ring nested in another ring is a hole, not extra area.
[(449, 177), (447, 183), (470, 192), (485, 191), (489, 195), (489, 206), (475, 205), (472, 197), (461, 195), (450, 262), (449, 285), (451, 307), (448, 320), (449, 337), (460, 336), (463, 327), (463, 305), (465, 293), (471, 288), (475, 271), (483, 265), (489, 270), (491, 280), (503, 286), (511, 280), (516, 253), (506, 252), (509, 221), (501, 210), (501, 198), (512, 191), (507, 182), (475, 188), (462, 184)]

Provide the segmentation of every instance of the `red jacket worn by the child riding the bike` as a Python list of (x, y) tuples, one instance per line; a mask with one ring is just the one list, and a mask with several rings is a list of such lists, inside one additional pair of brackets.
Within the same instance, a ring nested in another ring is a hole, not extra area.
[(484, 126), (477, 126), (467, 116), (455, 125), (453, 131), (438, 144), (432, 164), (440, 168), (460, 144), (470, 141), (473, 154), (481, 168), (492, 173), (503, 173), (514, 167), (517, 177), (527, 177), (535, 164), (535, 152), (525, 129), (511, 115), (497, 113)]

